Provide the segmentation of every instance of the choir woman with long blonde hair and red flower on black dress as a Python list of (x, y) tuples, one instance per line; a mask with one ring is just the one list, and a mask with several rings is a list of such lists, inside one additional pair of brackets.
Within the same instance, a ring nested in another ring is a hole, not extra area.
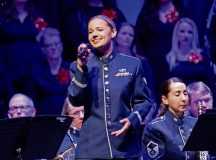
[(202, 81), (215, 92), (214, 73), (211, 61), (199, 48), (196, 24), (189, 18), (180, 19), (174, 28), (171, 51), (166, 56), (170, 76), (177, 76), (188, 85)]

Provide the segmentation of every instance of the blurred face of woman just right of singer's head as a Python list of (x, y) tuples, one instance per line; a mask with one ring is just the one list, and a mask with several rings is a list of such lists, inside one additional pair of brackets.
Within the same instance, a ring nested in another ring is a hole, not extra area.
[(116, 36), (118, 46), (130, 48), (134, 40), (134, 29), (130, 25), (122, 26)]

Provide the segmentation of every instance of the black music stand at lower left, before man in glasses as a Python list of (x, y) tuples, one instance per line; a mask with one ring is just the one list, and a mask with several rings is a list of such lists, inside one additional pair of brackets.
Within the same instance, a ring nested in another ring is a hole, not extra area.
[(0, 120), (0, 155), (7, 160), (53, 159), (72, 119), (36, 116)]

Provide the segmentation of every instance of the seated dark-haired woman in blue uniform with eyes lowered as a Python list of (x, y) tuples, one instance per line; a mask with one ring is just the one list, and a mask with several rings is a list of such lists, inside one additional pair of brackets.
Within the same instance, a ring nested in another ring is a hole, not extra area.
[(195, 152), (182, 151), (196, 118), (185, 116), (188, 93), (185, 83), (176, 77), (161, 88), (160, 116), (148, 123), (143, 132), (144, 159), (195, 159)]

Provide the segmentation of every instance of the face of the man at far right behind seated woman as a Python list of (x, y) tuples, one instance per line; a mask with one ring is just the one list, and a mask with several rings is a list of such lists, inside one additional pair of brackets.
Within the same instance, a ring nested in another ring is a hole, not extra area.
[(206, 94), (192, 94), (189, 103), (189, 111), (192, 116), (198, 117), (198, 105), (202, 106), (202, 113), (206, 112), (206, 109), (213, 108), (213, 99), (210, 93)]

